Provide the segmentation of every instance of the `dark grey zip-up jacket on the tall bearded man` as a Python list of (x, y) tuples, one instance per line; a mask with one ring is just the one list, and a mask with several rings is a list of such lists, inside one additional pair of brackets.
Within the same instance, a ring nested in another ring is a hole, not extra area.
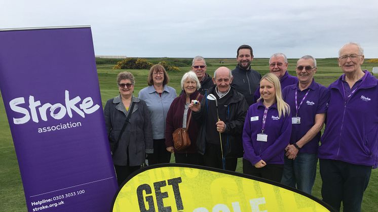
[(249, 67), (243, 69), (239, 65), (232, 70), (234, 77), (232, 86), (241, 94), (243, 94), (248, 105), (252, 105), (256, 101), (254, 100), (254, 93), (260, 83), (261, 74)]

